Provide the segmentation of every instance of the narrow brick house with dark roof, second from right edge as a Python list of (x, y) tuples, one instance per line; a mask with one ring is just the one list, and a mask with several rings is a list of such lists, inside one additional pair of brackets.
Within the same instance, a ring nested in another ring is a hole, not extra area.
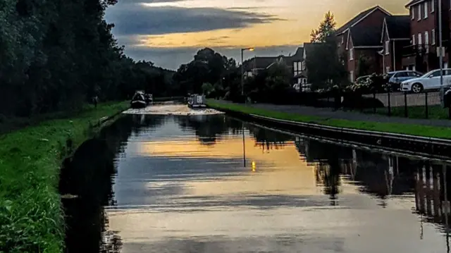
[(410, 17), (408, 15), (385, 17), (381, 36), (383, 73), (404, 69), (402, 53), (404, 47), (409, 46), (410, 37)]

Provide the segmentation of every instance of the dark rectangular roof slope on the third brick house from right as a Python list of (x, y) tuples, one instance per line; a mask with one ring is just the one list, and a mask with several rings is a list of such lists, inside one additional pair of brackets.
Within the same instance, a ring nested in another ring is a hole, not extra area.
[(381, 46), (381, 27), (351, 27), (350, 37), (353, 47)]

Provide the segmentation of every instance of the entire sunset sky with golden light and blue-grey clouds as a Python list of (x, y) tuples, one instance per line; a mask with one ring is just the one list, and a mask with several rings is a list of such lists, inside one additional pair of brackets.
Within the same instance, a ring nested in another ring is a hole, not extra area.
[(375, 5), (407, 13), (406, 0), (118, 1), (106, 11), (106, 21), (116, 25), (113, 34), (125, 53), (174, 70), (204, 47), (237, 61), (242, 47), (256, 47), (245, 58), (293, 54), (327, 11), (338, 25)]

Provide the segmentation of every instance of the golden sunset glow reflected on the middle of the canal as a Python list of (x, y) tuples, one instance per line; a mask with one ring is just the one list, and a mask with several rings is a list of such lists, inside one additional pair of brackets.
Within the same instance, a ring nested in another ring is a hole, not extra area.
[[(256, 194), (283, 195), (323, 195), (316, 187), (315, 166), (308, 166), (302, 161), (294, 144), (285, 147), (263, 150), (256, 147), (255, 140), (245, 139), (246, 160), (249, 173), (233, 180), (192, 181), (187, 183), (190, 195), (242, 195), (249, 192)], [(163, 156), (168, 158), (212, 158), (241, 159), (242, 140), (226, 139), (214, 145), (200, 144), (197, 140), (142, 142), (141, 156)], [(251, 161), (256, 163), (256, 172), (252, 172)], [(214, 165), (213, 165), (214, 166)], [(232, 178), (230, 178), (232, 179)], [(276, 179), (276, 180), (275, 180)], [(247, 182), (243, 184), (242, 182)], [(283, 190), (281, 190), (283, 189)], [(346, 185), (345, 192), (355, 192), (356, 187)]]

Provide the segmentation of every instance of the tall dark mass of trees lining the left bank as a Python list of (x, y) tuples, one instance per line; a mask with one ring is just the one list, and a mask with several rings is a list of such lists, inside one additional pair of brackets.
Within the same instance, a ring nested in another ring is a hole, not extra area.
[(117, 44), (104, 20), (113, 4), (1, 1), (0, 116), (75, 110), (91, 97), (126, 99), (137, 89), (172, 95), (171, 71), (135, 62)]

